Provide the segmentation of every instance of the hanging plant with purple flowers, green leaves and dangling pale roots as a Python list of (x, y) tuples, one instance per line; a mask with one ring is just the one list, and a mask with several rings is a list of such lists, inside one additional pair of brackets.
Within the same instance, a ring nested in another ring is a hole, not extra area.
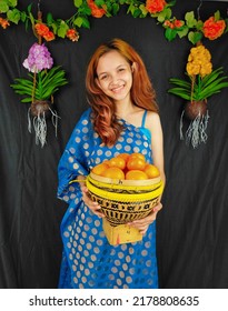
[[(47, 118), (51, 116), (52, 124), (58, 126), (58, 114), (53, 110), (53, 94), (60, 87), (68, 83), (65, 70), (60, 66), (53, 67), (53, 59), (48, 48), (42, 43), (42, 38), (48, 41), (53, 39), (53, 34), (46, 27), (42, 27), (41, 11), (38, 11), (38, 23), (34, 26), (34, 34), (38, 42), (29, 49), (29, 54), (23, 61), (23, 67), (28, 69), (28, 79), (16, 78), (10, 87), (16, 93), (22, 97), (21, 102), (29, 102), (28, 130), (36, 133), (36, 143), (43, 147), (47, 142)], [(32, 122), (31, 122), (32, 118)]]

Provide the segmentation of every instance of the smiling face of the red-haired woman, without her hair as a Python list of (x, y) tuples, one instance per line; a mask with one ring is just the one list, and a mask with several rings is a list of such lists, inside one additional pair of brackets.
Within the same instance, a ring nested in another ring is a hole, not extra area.
[(132, 68), (118, 51), (105, 53), (98, 61), (97, 83), (115, 101), (130, 99)]

